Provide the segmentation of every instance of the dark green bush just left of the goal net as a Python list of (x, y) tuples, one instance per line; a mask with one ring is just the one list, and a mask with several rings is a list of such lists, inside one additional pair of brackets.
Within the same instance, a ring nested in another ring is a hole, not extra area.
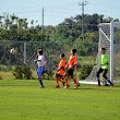
[(92, 70), (93, 70), (93, 64), (83, 64), (83, 65), (81, 65), (80, 80), (85, 80), (89, 75)]

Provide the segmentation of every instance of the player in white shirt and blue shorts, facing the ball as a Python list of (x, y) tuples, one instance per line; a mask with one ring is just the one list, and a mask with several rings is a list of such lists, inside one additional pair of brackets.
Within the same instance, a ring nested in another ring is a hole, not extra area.
[(37, 77), (39, 80), (39, 84), (41, 87), (44, 87), (44, 83), (43, 83), (43, 74), (46, 72), (45, 70), (45, 65), (46, 65), (46, 58), (43, 55), (43, 49), (38, 49), (37, 50), (37, 59), (35, 60), (38, 64), (38, 69), (37, 69)]

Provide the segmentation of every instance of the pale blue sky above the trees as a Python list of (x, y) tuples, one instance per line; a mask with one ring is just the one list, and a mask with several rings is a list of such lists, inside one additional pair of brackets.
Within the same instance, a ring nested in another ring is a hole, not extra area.
[[(85, 0), (85, 14), (104, 14), (120, 19), (120, 0)], [(58, 25), (67, 17), (82, 14), (83, 0), (0, 0), (0, 15), (3, 13), (15, 14), (19, 17), (38, 21), (41, 25), (43, 8), (44, 24)]]

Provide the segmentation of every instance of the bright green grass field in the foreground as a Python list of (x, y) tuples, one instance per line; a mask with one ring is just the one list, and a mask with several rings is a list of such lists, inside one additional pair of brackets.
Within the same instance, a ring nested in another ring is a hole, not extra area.
[(55, 88), (55, 81), (0, 81), (1, 120), (119, 120), (120, 86)]

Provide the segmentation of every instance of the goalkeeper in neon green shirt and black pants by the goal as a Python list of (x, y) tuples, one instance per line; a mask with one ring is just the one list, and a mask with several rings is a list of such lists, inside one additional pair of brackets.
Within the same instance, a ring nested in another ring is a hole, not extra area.
[(97, 81), (98, 81), (98, 86), (100, 86), (100, 80), (99, 80), (99, 74), (103, 73), (103, 77), (105, 77), (106, 81), (109, 82), (110, 86), (113, 86), (113, 84), (110, 82), (110, 80), (107, 77), (107, 72), (109, 70), (109, 62), (108, 62), (108, 56), (106, 53), (106, 48), (101, 48), (101, 57), (100, 57), (100, 69), (97, 72)]

